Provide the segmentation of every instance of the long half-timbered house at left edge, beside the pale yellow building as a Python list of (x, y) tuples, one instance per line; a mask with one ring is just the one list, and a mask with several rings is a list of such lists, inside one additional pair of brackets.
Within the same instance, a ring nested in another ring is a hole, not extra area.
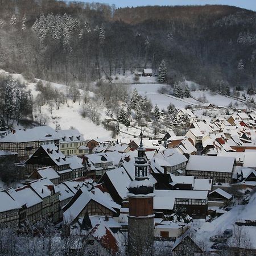
[(13, 130), (0, 139), (0, 149), (17, 152), (18, 158), (21, 160), (26, 160), (41, 145), (46, 144), (55, 144), (56, 146), (60, 144), (60, 135), (48, 126)]

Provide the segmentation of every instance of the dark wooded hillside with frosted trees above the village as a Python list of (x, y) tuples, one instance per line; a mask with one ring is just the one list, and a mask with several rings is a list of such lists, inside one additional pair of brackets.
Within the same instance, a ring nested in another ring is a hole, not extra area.
[(230, 6), (146, 6), (0, 1), (0, 68), (64, 82), (158, 72), (211, 89), (253, 88), (256, 13)]

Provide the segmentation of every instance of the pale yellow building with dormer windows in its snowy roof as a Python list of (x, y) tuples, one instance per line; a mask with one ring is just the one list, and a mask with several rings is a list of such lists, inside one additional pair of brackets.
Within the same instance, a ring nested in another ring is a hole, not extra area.
[(82, 134), (76, 129), (60, 130), (60, 150), (63, 155), (88, 154), (89, 148)]

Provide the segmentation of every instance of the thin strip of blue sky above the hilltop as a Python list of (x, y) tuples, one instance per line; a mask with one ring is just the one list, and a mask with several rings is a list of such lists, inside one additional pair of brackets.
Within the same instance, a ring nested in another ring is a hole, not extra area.
[[(80, 0), (81, 1), (81, 0)], [(83, 0), (84, 2), (100, 2), (114, 4), (117, 7), (144, 5), (234, 5), (256, 11), (256, 0)]]

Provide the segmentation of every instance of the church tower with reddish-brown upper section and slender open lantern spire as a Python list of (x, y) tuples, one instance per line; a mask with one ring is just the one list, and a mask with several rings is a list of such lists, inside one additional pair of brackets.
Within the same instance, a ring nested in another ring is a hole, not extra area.
[(142, 143), (135, 158), (135, 180), (129, 186), (128, 251), (130, 256), (154, 254), (154, 187), (147, 176), (148, 163)]

